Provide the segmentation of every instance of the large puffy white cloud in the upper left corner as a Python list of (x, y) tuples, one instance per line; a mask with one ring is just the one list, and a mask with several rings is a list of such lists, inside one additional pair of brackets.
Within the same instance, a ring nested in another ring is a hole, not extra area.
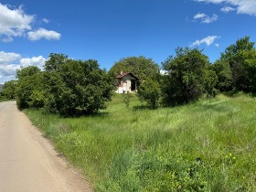
[(5, 36), (4, 42), (11, 41), (12, 37), (22, 37), (31, 29), (34, 19), (35, 16), (24, 13), (22, 6), (12, 10), (0, 3), (0, 36)]

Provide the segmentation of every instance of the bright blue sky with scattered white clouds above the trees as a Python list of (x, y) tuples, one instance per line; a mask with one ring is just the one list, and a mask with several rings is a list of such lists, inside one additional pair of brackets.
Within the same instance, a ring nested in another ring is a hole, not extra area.
[(245, 36), (256, 42), (256, 0), (0, 0), (0, 83), (50, 53), (109, 70), (133, 56), (161, 66), (188, 47), (213, 63)]

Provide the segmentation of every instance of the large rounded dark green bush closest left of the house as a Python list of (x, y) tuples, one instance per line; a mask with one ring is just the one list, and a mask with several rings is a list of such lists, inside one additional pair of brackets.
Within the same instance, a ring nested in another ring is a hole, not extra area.
[(74, 60), (51, 54), (45, 69), (47, 112), (65, 116), (98, 112), (111, 99), (111, 80), (96, 60)]

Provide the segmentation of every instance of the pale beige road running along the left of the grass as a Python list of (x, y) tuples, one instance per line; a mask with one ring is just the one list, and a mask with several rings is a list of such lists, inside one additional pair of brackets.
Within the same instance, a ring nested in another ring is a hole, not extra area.
[(0, 192), (91, 191), (16, 101), (0, 102)]

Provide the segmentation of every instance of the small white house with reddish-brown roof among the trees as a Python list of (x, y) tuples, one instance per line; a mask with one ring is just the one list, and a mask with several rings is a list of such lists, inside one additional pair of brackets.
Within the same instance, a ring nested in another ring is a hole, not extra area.
[(123, 73), (123, 71), (120, 72), (120, 74), (116, 77), (117, 78), (117, 90), (115, 92), (117, 93), (125, 93), (125, 92), (133, 92), (137, 91), (137, 84), (138, 84), (138, 78), (133, 75), (131, 72)]

